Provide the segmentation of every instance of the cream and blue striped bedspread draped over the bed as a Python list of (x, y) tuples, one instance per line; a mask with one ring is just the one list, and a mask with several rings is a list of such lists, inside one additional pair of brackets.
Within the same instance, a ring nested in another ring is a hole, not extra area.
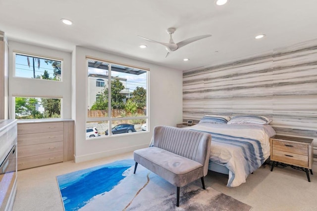
[(186, 129), (211, 133), (210, 160), (229, 169), (227, 186), (246, 182), (270, 155), (269, 138), (275, 135), (270, 125), (199, 123)]

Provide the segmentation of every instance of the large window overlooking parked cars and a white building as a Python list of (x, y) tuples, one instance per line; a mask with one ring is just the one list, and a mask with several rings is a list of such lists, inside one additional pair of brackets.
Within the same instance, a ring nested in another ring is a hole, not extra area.
[(148, 69), (90, 58), (87, 61), (86, 128), (98, 128), (99, 136), (146, 131), (141, 127), (149, 118)]

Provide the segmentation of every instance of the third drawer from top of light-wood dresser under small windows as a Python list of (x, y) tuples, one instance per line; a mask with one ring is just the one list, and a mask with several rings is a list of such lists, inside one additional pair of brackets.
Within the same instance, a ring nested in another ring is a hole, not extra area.
[(64, 142), (52, 142), (36, 145), (18, 146), (17, 157), (24, 158), (30, 156), (43, 155), (48, 153), (62, 152), (63, 153)]

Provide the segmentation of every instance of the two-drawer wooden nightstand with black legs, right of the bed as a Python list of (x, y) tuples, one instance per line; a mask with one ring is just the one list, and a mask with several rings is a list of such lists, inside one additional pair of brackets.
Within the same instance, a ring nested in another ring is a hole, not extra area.
[(282, 162), (306, 172), (310, 182), (309, 171), (312, 171), (313, 139), (293, 136), (275, 135), (270, 138), (270, 160), (273, 160), (271, 171), (275, 162)]

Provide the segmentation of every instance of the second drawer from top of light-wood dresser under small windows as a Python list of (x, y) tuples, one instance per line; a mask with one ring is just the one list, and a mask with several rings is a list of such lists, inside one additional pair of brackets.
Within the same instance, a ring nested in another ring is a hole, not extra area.
[(60, 131), (46, 133), (30, 133), (18, 135), (18, 146), (42, 144), (63, 141), (64, 136)]

